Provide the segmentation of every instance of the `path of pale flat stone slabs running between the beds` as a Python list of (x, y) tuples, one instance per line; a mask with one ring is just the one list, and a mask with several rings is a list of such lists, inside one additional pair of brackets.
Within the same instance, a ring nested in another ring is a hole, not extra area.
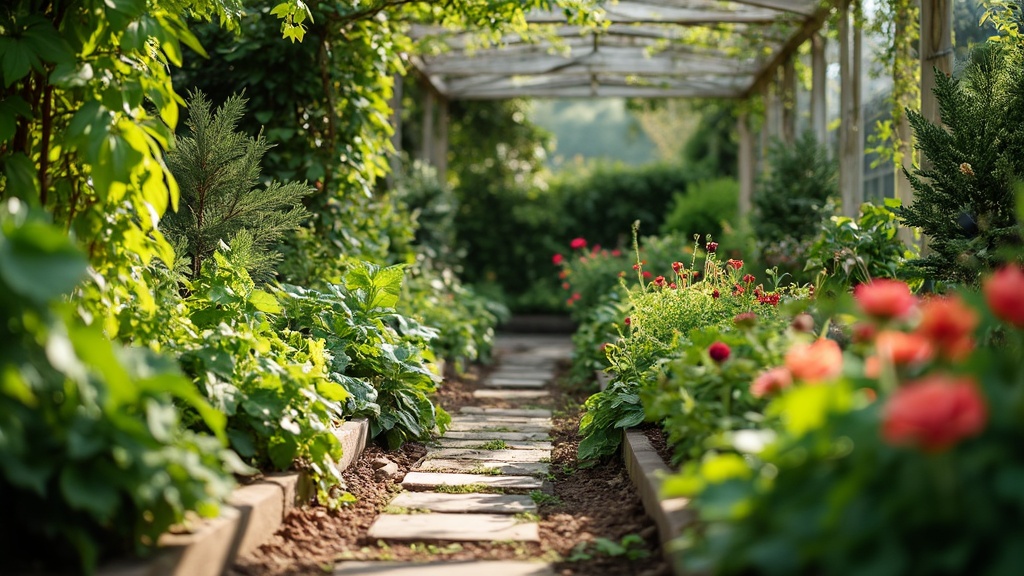
[[(550, 493), (551, 411), (547, 384), (571, 355), (567, 336), (502, 335), (496, 369), (449, 431), (406, 475), (400, 492), (369, 537), (400, 542), (538, 542), (537, 503)], [(488, 404), (501, 402), (496, 408)], [(541, 562), (343, 562), (335, 576), (553, 576)]]

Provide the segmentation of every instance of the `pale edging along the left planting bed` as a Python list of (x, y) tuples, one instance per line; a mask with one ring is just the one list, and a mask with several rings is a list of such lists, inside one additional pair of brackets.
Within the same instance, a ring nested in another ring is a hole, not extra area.
[[(370, 440), (366, 418), (344, 422), (334, 430), (347, 469)], [(98, 576), (220, 576), (239, 557), (258, 548), (281, 527), (293, 508), (312, 497), (312, 483), (302, 472), (268, 474), (231, 492), (221, 513), (188, 534), (164, 534), (159, 549), (145, 560), (121, 561), (100, 568)]]

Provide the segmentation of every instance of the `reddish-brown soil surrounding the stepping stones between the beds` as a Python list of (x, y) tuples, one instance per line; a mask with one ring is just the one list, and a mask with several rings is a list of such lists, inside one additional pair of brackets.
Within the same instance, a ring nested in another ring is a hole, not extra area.
[[(445, 410), (478, 404), (472, 393), (489, 369), (474, 367), (469, 373), (450, 375), (438, 390)], [(232, 567), (232, 576), (297, 576), (322, 574), (343, 560), (526, 560), (552, 562), (559, 575), (667, 576), (657, 531), (644, 513), (625, 466), (612, 458), (593, 467), (577, 467), (579, 407), (586, 394), (552, 388), (555, 411), (554, 451), (551, 470), (554, 494), (542, 501), (541, 543), (438, 543), (388, 544), (370, 541), (367, 530), (400, 490), (396, 482), (425, 453), (420, 444), (387, 452), (368, 447), (364, 456), (344, 472), (356, 501), (337, 510), (310, 506), (295, 510), (273, 538)], [(488, 406), (523, 407), (526, 403)], [(374, 480), (371, 462), (385, 456), (401, 469), (395, 481)], [(621, 546), (626, 544), (626, 550)], [(617, 546), (616, 546), (617, 545)]]

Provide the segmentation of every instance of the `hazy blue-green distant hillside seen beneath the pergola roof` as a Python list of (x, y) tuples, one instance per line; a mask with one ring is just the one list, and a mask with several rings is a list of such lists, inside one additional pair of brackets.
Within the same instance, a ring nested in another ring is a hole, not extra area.
[(578, 157), (635, 166), (658, 159), (653, 142), (626, 110), (623, 98), (537, 99), (530, 120), (555, 135), (550, 164), (556, 170)]

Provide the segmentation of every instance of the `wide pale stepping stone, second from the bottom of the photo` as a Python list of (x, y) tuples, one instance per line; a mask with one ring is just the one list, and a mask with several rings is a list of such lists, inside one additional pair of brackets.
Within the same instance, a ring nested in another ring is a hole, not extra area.
[(367, 532), (371, 540), (540, 542), (536, 522), (520, 522), (508, 515), (380, 515)]

